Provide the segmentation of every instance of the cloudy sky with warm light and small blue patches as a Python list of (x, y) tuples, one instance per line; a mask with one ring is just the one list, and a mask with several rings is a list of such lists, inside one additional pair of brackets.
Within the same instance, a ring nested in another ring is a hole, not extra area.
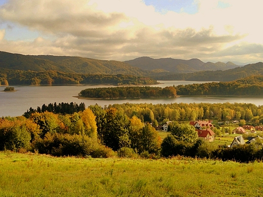
[(0, 0), (0, 51), (125, 61), (263, 61), (250, 0)]

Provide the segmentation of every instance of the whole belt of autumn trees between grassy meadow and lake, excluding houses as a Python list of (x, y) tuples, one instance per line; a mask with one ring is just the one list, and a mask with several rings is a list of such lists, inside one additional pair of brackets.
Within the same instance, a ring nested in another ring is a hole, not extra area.
[[(69, 112), (64, 110), (62, 113), (62, 106), (68, 106)], [(228, 149), (198, 140), (197, 132), (189, 121), (205, 119), (215, 122), (239, 120), (241, 124), (262, 125), (263, 107), (238, 103), (126, 103), (104, 108), (98, 105), (85, 108), (73, 103), (43, 105), (37, 110), (30, 108), (21, 117), (0, 119), (0, 151), (104, 158), (114, 155), (143, 158), (181, 155), (239, 162), (262, 158), (260, 145), (245, 144)], [(155, 127), (167, 121), (171, 121), (170, 134), (162, 140)], [(216, 123), (214, 126), (211, 129), (215, 133), (220, 133), (217, 132), (220, 129), (230, 132)]]

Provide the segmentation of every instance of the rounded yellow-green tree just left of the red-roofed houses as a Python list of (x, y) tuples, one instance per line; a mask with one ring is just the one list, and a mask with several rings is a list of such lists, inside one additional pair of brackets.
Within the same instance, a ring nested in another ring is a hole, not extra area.
[(195, 127), (189, 124), (173, 125), (171, 134), (179, 141), (186, 141), (190, 143), (195, 142), (198, 138)]

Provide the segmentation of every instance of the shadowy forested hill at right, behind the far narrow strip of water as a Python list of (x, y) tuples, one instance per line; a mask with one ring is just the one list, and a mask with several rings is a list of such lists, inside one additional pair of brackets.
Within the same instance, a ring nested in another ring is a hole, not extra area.
[(195, 73), (180, 73), (155, 76), (156, 80), (187, 80), (187, 81), (233, 81), (251, 75), (263, 75), (263, 63), (248, 64), (226, 71), (199, 71)]

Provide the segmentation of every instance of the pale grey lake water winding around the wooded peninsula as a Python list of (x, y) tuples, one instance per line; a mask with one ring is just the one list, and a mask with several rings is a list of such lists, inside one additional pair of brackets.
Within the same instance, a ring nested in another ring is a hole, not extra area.
[[(205, 83), (206, 81), (159, 81), (161, 84), (154, 85), (166, 87), (179, 84)], [(95, 87), (113, 87), (113, 85), (67, 85), (67, 86), (13, 86), (17, 91), (3, 92), (5, 86), (0, 86), (0, 117), (21, 116), (30, 107), (36, 109), (43, 104), (49, 103), (84, 103), (85, 106), (100, 106), (122, 103), (252, 103), (263, 105), (261, 96), (181, 96), (177, 98), (144, 98), (127, 100), (81, 100), (76, 96), (82, 89)]]

